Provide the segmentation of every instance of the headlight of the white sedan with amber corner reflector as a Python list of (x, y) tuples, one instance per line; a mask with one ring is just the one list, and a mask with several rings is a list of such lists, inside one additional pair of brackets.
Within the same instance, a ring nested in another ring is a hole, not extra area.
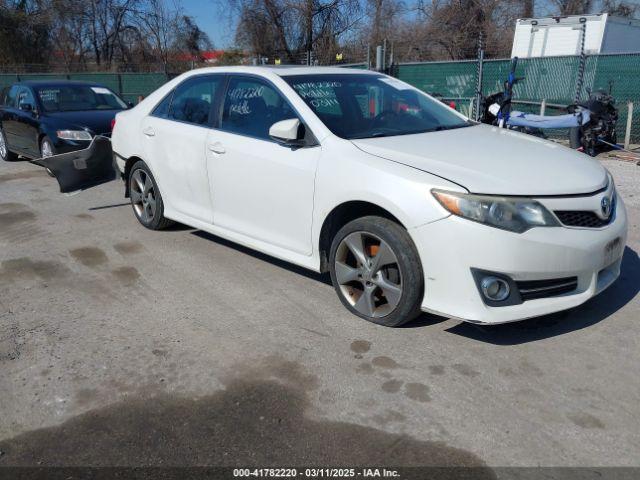
[(560, 223), (542, 204), (528, 198), (492, 197), (432, 190), (445, 209), (474, 222), (523, 233), (533, 227), (558, 227)]

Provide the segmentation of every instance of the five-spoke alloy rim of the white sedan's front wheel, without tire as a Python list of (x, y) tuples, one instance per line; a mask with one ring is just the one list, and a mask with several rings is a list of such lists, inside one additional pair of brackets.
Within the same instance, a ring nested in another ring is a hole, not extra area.
[(393, 313), (402, 298), (402, 272), (393, 249), (369, 232), (345, 237), (335, 256), (335, 275), (340, 292), (367, 317)]

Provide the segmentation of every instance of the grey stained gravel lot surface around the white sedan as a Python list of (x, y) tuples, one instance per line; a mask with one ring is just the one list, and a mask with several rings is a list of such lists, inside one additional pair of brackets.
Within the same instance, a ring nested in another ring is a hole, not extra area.
[(0, 466), (640, 466), (640, 167), (603, 162), (631, 220), (610, 290), (398, 330), (325, 276), (144, 230), (119, 183), (0, 164)]

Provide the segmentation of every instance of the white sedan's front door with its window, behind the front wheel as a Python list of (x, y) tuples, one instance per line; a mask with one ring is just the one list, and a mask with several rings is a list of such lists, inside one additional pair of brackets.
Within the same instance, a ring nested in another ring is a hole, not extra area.
[(314, 183), (320, 147), (292, 149), (269, 128), (296, 112), (270, 83), (232, 76), (219, 128), (207, 138), (214, 224), (311, 255)]

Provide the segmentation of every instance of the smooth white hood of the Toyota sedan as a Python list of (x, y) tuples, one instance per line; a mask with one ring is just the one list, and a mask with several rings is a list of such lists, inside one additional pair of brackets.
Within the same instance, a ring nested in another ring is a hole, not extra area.
[(446, 178), (472, 193), (575, 195), (607, 184), (606, 170), (587, 155), (488, 125), (353, 143), (366, 153)]

